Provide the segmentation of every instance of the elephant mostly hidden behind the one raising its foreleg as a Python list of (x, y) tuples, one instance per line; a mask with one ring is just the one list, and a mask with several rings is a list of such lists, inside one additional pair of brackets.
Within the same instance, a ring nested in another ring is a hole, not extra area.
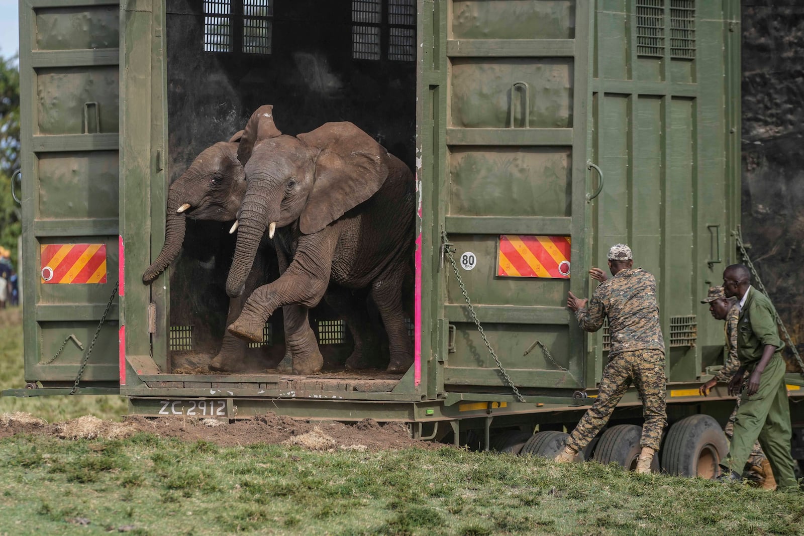
[[(269, 112), (272, 108), (270, 105), (263, 107)], [(178, 256), (184, 240), (186, 219), (219, 222), (236, 219), (246, 190), (243, 165), (237, 155), (243, 133), (241, 130), (229, 141), (219, 141), (204, 149), (191, 166), (170, 184), (167, 194), (165, 244), (154, 262), (143, 273), (144, 284), (152, 283)], [(236, 228), (232, 227), (232, 231), (236, 231)], [(272, 276), (272, 272), (276, 269), (270, 268), (273, 256), (273, 242), (266, 235), (260, 242), (259, 252), (248, 274), (244, 293), (229, 302), (226, 325), (231, 324), (240, 315), (245, 299), (252, 290)], [(371, 321), (367, 315), (364, 297), (361, 301), (361, 297), (351, 297), (351, 294), (344, 293), (338, 288), (328, 291), (326, 296), (327, 303), (344, 318), (355, 342), (351, 360), (347, 361), (347, 368), (370, 366), (369, 356), (379, 353), (379, 340), (371, 332)], [(212, 358), (209, 368), (229, 372), (242, 370), (247, 351), (248, 342), (236, 338), (228, 331), (224, 332), (220, 350)], [(286, 352), (285, 358), (279, 365), (280, 371), (289, 372), (291, 361), (291, 354)]]

